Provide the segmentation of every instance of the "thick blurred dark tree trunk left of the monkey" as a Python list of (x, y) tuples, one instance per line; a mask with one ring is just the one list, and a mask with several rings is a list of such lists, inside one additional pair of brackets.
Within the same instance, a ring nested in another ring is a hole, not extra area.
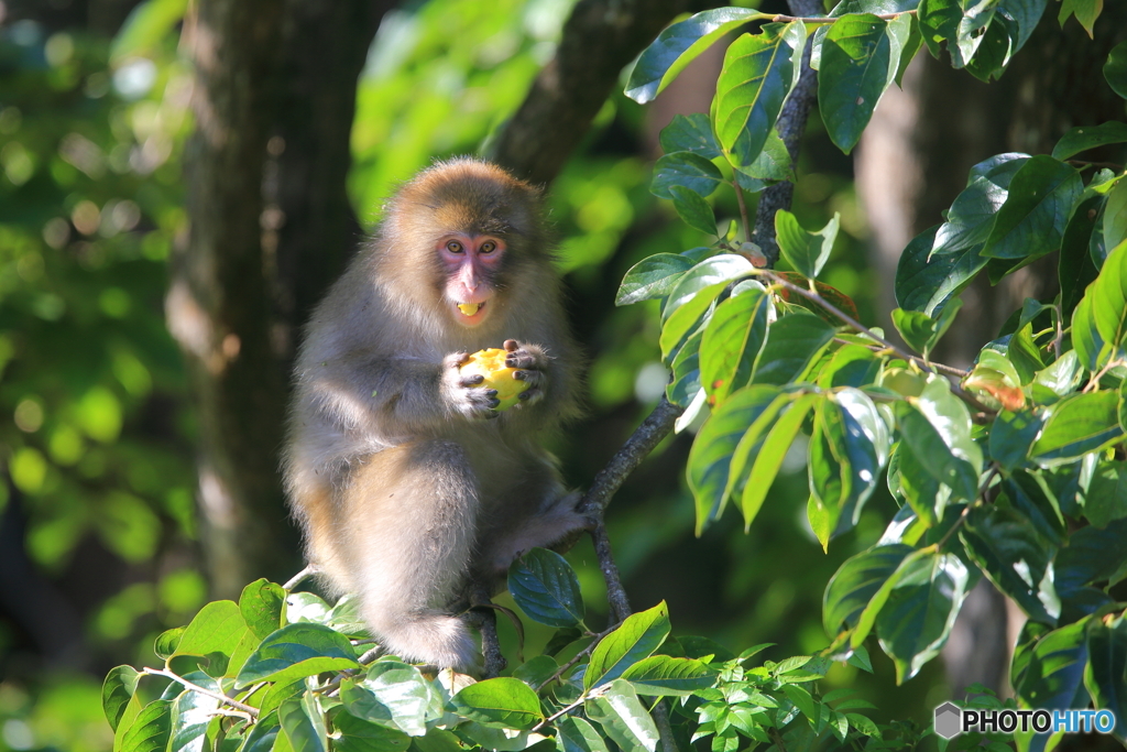
[(277, 472), (294, 328), (355, 246), (356, 79), (388, 3), (202, 0), (185, 39), (196, 133), (169, 327), (199, 416), (201, 540), (216, 595), (299, 566)]

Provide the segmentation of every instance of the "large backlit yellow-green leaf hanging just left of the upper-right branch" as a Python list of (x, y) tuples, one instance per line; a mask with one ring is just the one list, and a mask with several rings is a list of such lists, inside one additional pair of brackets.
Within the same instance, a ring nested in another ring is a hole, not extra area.
[(806, 26), (791, 21), (765, 26), (756, 36), (744, 34), (728, 47), (716, 85), (712, 124), (733, 166), (748, 166), (763, 151), (795, 85), (793, 59), (805, 42)]

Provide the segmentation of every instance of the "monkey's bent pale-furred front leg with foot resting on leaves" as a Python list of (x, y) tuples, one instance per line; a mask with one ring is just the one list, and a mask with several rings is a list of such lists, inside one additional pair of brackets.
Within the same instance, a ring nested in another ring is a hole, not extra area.
[(443, 607), (465, 577), (478, 487), (462, 448), (427, 441), (387, 449), (341, 492), (352, 590), (390, 652), (458, 669), (478, 662), (465, 623)]

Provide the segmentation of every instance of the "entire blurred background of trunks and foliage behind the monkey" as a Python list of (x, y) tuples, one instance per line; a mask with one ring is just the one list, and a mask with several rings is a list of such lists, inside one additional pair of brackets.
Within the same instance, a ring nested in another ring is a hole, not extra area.
[[(301, 322), (398, 182), (489, 149), (520, 117), (566, 48), (575, 5), (0, 0), (0, 750), (108, 750), (108, 669), (158, 665), (162, 630), (301, 568), (276, 474)], [(650, 39), (712, 3), (660, 5)], [(236, 7), (247, 17), (232, 21)], [(1104, 9), (1094, 43), (1074, 21), (1062, 32), (1045, 19), (988, 86), (922, 54), (853, 156), (815, 112), (793, 211), (811, 228), (841, 212), (825, 281), (863, 321), (891, 328), (896, 258), (941, 220), (970, 165), (1122, 118), (1092, 71), (1127, 34), (1125, 12)], [(1044, 55), (1063, 62), (1049, 70)], [(639, 259), (708, 245), (648, 185), (658, 132), (708, 110), (721, 62), (719, 45), (646, 107), (614, 74), (545, 178), (589, 357), (587, 416), (552, 446), (577, 487), (664, 389), (656, 307), (616, 309), (614, 293)], [(1055, 293), (1037, 268), (1017, 276), (966, 293), (941, 360), (965, 365), (1024, 297)], [(665, 599), (675, 634), (735, 652), (824, 647), (823, 587), (880, 536), (893, 501), (870, 502), (824, 555), (796, 453), (749, 533), (733, 514), (698, 539), (690, 445), (691, 432), (666, 440), (611, 505), (633, 607)], [(604, 610), (589, 545), (569, 559), (588, 608)], [(876, 675), (837, 665), (827, 681), (857, 687), (882, 720), (926, 723), (971, 681), (1004, 693), (1005, 634), (1020, 625), (988, 585), (976, 599), (949, 646), (950, 680), (935, 662), (897, 689), (873, 645)], [(547, 637), (530, 631), (526, 654)]]

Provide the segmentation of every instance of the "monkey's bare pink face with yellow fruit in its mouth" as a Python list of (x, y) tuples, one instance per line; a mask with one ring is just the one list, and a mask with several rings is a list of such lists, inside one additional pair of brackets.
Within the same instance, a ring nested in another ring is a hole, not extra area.
[(446, 267), (446, 302), (462, 326), (474, 327), (488, 318), (496, 290), (491, 280), (505, 255), (505, 242), (488, 235), (445, 236), (438, 255)]

